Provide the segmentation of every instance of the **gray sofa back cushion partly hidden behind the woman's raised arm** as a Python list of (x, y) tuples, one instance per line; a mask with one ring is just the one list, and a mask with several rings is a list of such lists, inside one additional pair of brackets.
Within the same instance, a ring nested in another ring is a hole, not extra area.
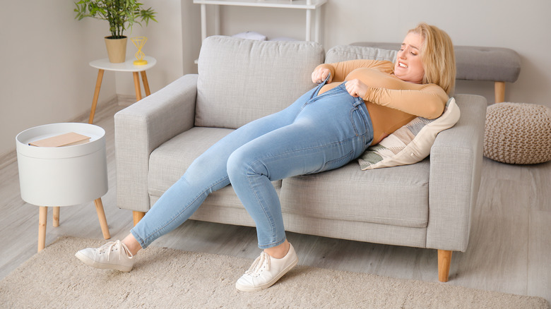
[(374, 59), (394, 62), (398, 51), (389, 49), (380, 49), (375, 47), (361, 47), (352, 45), (337, 45), (327, 51), (326, 63), (356, 59)]

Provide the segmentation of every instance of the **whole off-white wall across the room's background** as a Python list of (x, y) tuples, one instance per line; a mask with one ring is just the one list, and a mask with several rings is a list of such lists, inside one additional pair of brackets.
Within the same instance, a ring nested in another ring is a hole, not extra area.
[[(200, 11), (191, 0), (143, 3), (158, 12), (159, 23), (135, 27), (127, 35), (148, 37), (143, 52), (158, 59), (148, 71), (155, 92), (184, 73), (196, 73)], [(71, 0), (3, 3), (0, 157), (15, 149), (20, 131), (70, 121), (90, 109), (97, 71), (88, 62), (107, 56), (103, 44), (107, 22), (75, 20), (73, 8)], [(328, 0), (322, 10), (322, 43), (329, 49), (358, 41), (401, 42), (405, 31), (425, 21), (446, 30), (458, 45), (516, 50), (521, 55), (521, 75), (506, 85), (506, 100), (551, 107), (550, 12), (549, 0)], [(254, 30), (268, 38), (304, 39), (302, 10), (223, 6), (220, 15), (223, 35)], [(127, 48), (127, 56), (134, 57), (134, 44), (129, 42)], [(493, 100), (492, 83), (461, 82), (457, 92)], [(131, 74), (105, 73), (100, 104), (116, 95), (134, 96)]]

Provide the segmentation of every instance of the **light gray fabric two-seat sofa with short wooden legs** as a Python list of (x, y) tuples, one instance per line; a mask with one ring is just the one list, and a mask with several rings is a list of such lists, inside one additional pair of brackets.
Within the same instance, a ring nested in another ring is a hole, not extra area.
[[(199, 74), (184, 75), (115, 117), (117, 205), (137, 223), (186, 167), (244, 123), (285, 108), (314, 87), (324, 61), (391, 59), (372, 47), (208, 37)], [(362, 171), (357, 162), (273, 182), (285, 228), (302, 234), (439, 250), (447, 281), (452, 251), (465, 251), (478, 195), (486, 100), (456, 95), (461, 119), (430, 156)], [(191, 219), (254, 226), (231, 186), (208, 196)]]

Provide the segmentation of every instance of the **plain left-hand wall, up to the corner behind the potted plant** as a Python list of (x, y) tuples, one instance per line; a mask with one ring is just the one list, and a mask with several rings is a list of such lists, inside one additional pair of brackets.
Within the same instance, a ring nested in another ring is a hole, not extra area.
[[(74, 20), (66, 0), (3, 1), (0, 18), (0, 154), (15, 149), (17, 133), (70, 121), (90, 109), (97, 72), (88, 62), (96, 25)], [(105, 49), (105, 47), (103, 47)], [(106, 76), (102, 97), (114, 97)]]

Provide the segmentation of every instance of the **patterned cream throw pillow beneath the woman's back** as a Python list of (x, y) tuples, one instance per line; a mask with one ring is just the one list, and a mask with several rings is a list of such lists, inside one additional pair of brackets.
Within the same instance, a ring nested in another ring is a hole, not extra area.
[(429, 155), (437, 134), (454, 126), (460, 115), (456, 100), (451, 97), (437, 119), (417, 117), (379, 144), (369, 147), (358, 158), (360, 168), (378, 169), (420, 162)]

